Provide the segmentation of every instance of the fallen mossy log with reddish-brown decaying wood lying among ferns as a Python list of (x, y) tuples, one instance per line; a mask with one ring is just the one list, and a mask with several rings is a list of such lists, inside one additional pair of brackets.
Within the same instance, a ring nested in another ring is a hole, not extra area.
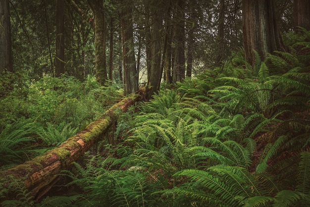
[[(15, 199), (16, 189), (27, 189), (36, 199), (50, 185), (61, 170), (67, 169), (100, 139), (109, 126), (127, 108), (139, 101), (140, 95), (132, 94), (110, 107), (98, 120), (70, 137), (57, 148), (34, 159), (0, 171), (0, 200)], [(2, 197), (2, 198), (1, 198)], [(39, 196), (40, 197), (40, 196)]]

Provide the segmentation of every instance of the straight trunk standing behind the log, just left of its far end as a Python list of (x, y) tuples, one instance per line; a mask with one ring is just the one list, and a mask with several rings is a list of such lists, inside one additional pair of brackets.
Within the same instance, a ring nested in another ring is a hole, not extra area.
[[(131, 2), (131, 5), (133, 2)], [(139, 73), (136, 67), (133, 22), (131, 5), (122, 7), (121, 27), (123, 40), (123, 63), (124, 63), (124, 93), (125, 95), (138, 91)]]

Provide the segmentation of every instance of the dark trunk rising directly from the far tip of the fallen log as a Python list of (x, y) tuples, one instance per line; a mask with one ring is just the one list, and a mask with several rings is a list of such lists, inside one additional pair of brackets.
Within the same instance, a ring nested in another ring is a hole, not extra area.
[(161, 3), (155, 4), (152, 9), (154, 12), (151, 28), (151, 68), (148, 71), (148, 86), (150, 91), (148, 92), (148, 98), (157, 92), (160, 88), (160, 81), (162, 71), (160, 67), (161, 63), (161, 39), (162, 39), (162, 5)]

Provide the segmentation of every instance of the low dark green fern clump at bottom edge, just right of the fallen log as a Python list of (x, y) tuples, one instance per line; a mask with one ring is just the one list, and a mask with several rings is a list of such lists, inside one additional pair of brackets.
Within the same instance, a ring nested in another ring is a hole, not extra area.
[(148, 180), (147, 173), (139, 171), (139, 168), (107, 170), (108, 159), (100, 158), (101, 164), (98, 166), (93, 165), (95, 160), (91, 159), (86, 169), (74, 163), (78, 172), (76, 175), (67, 171), (68, 176), (73, 179), (70, 184), (78, 185), (87, 193), (80, 196), (81, 199), (75, 202), (75, 205), (155, 206), (157, 196), (153, 193), (161, 189), (161, 181)]

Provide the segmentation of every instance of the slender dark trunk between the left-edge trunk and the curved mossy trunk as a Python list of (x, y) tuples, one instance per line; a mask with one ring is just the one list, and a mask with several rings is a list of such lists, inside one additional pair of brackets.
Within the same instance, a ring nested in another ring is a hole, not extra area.
[(57, 0), (56, 7), (55, 76), (60, 77), (64, 73), (64, 1)]

